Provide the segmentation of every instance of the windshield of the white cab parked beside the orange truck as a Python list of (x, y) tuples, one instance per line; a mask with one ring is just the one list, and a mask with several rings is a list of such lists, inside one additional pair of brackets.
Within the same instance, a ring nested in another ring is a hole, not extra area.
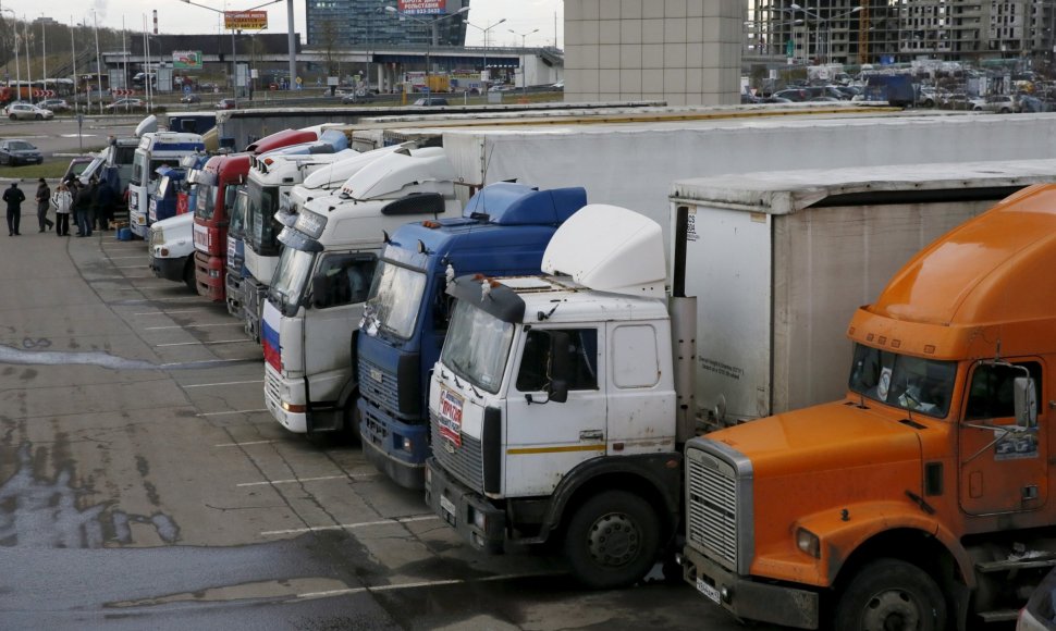
[(472, 385), (495, 394), (513, 336), (512, 323), (458, 300), (440, 361)]

